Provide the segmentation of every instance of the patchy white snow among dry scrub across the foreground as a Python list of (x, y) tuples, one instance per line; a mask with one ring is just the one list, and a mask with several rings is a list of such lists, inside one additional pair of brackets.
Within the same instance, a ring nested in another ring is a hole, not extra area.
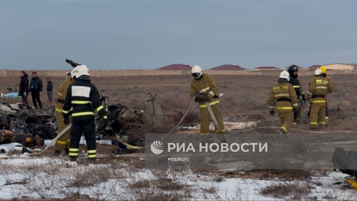
[[(7, 154), (3, 154), (7, 155)], [(0, 155), (2, 156), (2, 155)], [(118, 195), (120, 193), (126, 192), (123, 185), (129, 185), (132, 188), (132, 184), (144, 181), (155, 182), (160, 179), (167, 179), (165, 171), (152, 171), (147, 169), (136, 169), (131, 165), (126, 163), (117, 163), (118, 166), (113, 168), (109, 164), (100, 165), (78, 165), (75, 162), (68, 162), (61, 159), (52, 158), (23, 158), (26, 155), (15, 155), (11, 158), (1, 158), (0, 166), (4, 168), (4, 171), (0, 172), (0, 195), (2, 199), (11, 198), (21, 198), (22, 196), (28, 196), (30, 198), (41, 198), (40, 192), (35, 192), (29, 187), (34, 184), (38, 185), (50, 185), (50, 182), (54, 179), (54, 174), (49, 172), (51, 166), (56, 167), (55, 170), (61, 170), (62, 176), (66, 178), (72, 178), (75, 181), (75, 175), (80, 171), (105, 171), (108, 170), (108, 174), (113, 174), (110, 171), (115, 171), (121, 173), (122, 177), (116, 179), (110, 178), (105, 182), (96, 183), (93, 186), (84, 186), (80, 189), (81, 195), (87, 195), (90, 198), (95, 198), (98, 193), (101, 192), (101, 196), (108, 196), (105, 200), (116, 200), (117, 197), (111, 197), (106, 193), (112, 193), (109, 191), (110, 188), (115, 188), (114, 192)], [(36, 172), (33, 168), (42, 168), (40, 172)], [(16, 169), (17, 168), (17, 169)], [(46, 169), (48, 168), (48, 170)], [(103, 169), (101, 169), (103, 168)], [(109, 171), (110, 170), (110, 171)], [(35, 171), (36, 173), (33, 173)], [(53, 170), (52, 170), (53, 171)], [(77, 171), (77, 172), (76, 172)], [(98, 173), (98, 172), (97, 172)], [(30, 176), (31, 175), (31, 176)], [(87, 175), (85, 173), (84, 175)], [(334, 197), (334, 200), (351, 200), (354, 198), (355, 190), (347, 189), (344, 190), (343, 185), (346, 185), (346, 176), (341, 172), (332, 172), (328, 176), (313, 176), (307, 178), (306, 180), (299, 180), (302, 182), (309, 181), (312, 183), (313, 188), (308, 194), (309, 197), (316, 197), (317, 200), (326, 200), (326, 195)], [(296, 180), (286, 180), (284, 178), (223, 178), (223, 180), (218, 181), (217, 174), (202, 174), (200, 172), (193, 172), (188, 178), (186, 185), (192, 190), (190, 190), (192, 197), (187, 197), (187, 200), (286, 200), (281, 198), (276, 198), (269, 195), (262, 195), (260, 190), (267, 186), (273, 184), (285, 182), (297, 182)], [(22, 184), (21, 181), (26, 180), (27, 183), (31, 185)], [(62, 181), (62, 180), (61, 180)], [(92, 181), (88, 181), (92, 182)], [(171, 182), (171, 181), (169, 181)], [(336, 184), (336, 182), (338, 184)], [(340, 183), (341, 182), (341, 183)], [(80, 183), (80, 182), (79, 182)], [(137, 185), (138, 185), (137, 184)], [(74, 187), (75, 188), (75, 187)], [(144, 190), (155, 188), (155, 187), (140, 187), (141, 190), (137, 192), (142, 192)], [(214, 189), (214, 192), (210, 192), (210, 189)], [(73, 189), (71, 189), (73, 190)], [(159, 193), (177, 193), (183, 190), (166, 190), (166, 189), (156, 189)], [(43, 193), (43, 192), (42, 192)], [(50, 186), (49, 190), (46, 190), (47, 197), (45, 198), (65, 198), (66, 196), (63, 192), (58, 191), (55, 186)], [(126, 197), (127, 198), (127, 197)], [(135, 200), (137, 197), (131, 197)], [(130, 197), (129, 197), (130, 199)]]

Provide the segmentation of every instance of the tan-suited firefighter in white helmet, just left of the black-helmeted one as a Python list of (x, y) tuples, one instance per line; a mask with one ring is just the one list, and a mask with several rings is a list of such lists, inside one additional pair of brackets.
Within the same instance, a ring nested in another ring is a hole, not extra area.
[(278, 110), (280, 125), (279, 134), (288, 133), (292, 126), (295, 111), (298, 109), (297, 95), (292, 84), (289, 83), (289, 73), (284, 70), (280, 73), (276, 84), (269, 95), (270, 115), (274, 116), (274, 104)]

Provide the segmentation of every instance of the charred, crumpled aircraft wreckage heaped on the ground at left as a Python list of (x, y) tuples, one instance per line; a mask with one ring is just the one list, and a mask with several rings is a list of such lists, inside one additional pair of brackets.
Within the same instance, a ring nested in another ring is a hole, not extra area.
[[(125, 138), (126, 130), (131, 127), (142, 127), (146, 122), (160, 126), (167, 121), (160, 104), (155, 102), (156, 95), (147, 94), (143, 112), (121, 104), (108, 106), (105, 95), (102, 95), (102, 105), (109, 113), (110, 122), (104, 124), (102, 118), (96, 114), (97, 139), (114, 137), (116, 140), (112, 144), (120, 148), (139, 148), (130, 145), (139, 139), (124, 142), (121, 138)], [(54, 106), (35, 110), (23, 103), (1, 103), (0, 144), (17, 142), (25, 147), (43, 146), (45, 139), (53, 139), (57, 135), (58, 127), (55, 120)]]

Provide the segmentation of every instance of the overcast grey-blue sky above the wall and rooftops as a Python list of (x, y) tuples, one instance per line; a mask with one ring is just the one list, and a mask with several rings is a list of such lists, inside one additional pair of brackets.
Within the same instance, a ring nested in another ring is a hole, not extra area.
[(0, 69), (357, 63), (357, 1), (1, 0)]

